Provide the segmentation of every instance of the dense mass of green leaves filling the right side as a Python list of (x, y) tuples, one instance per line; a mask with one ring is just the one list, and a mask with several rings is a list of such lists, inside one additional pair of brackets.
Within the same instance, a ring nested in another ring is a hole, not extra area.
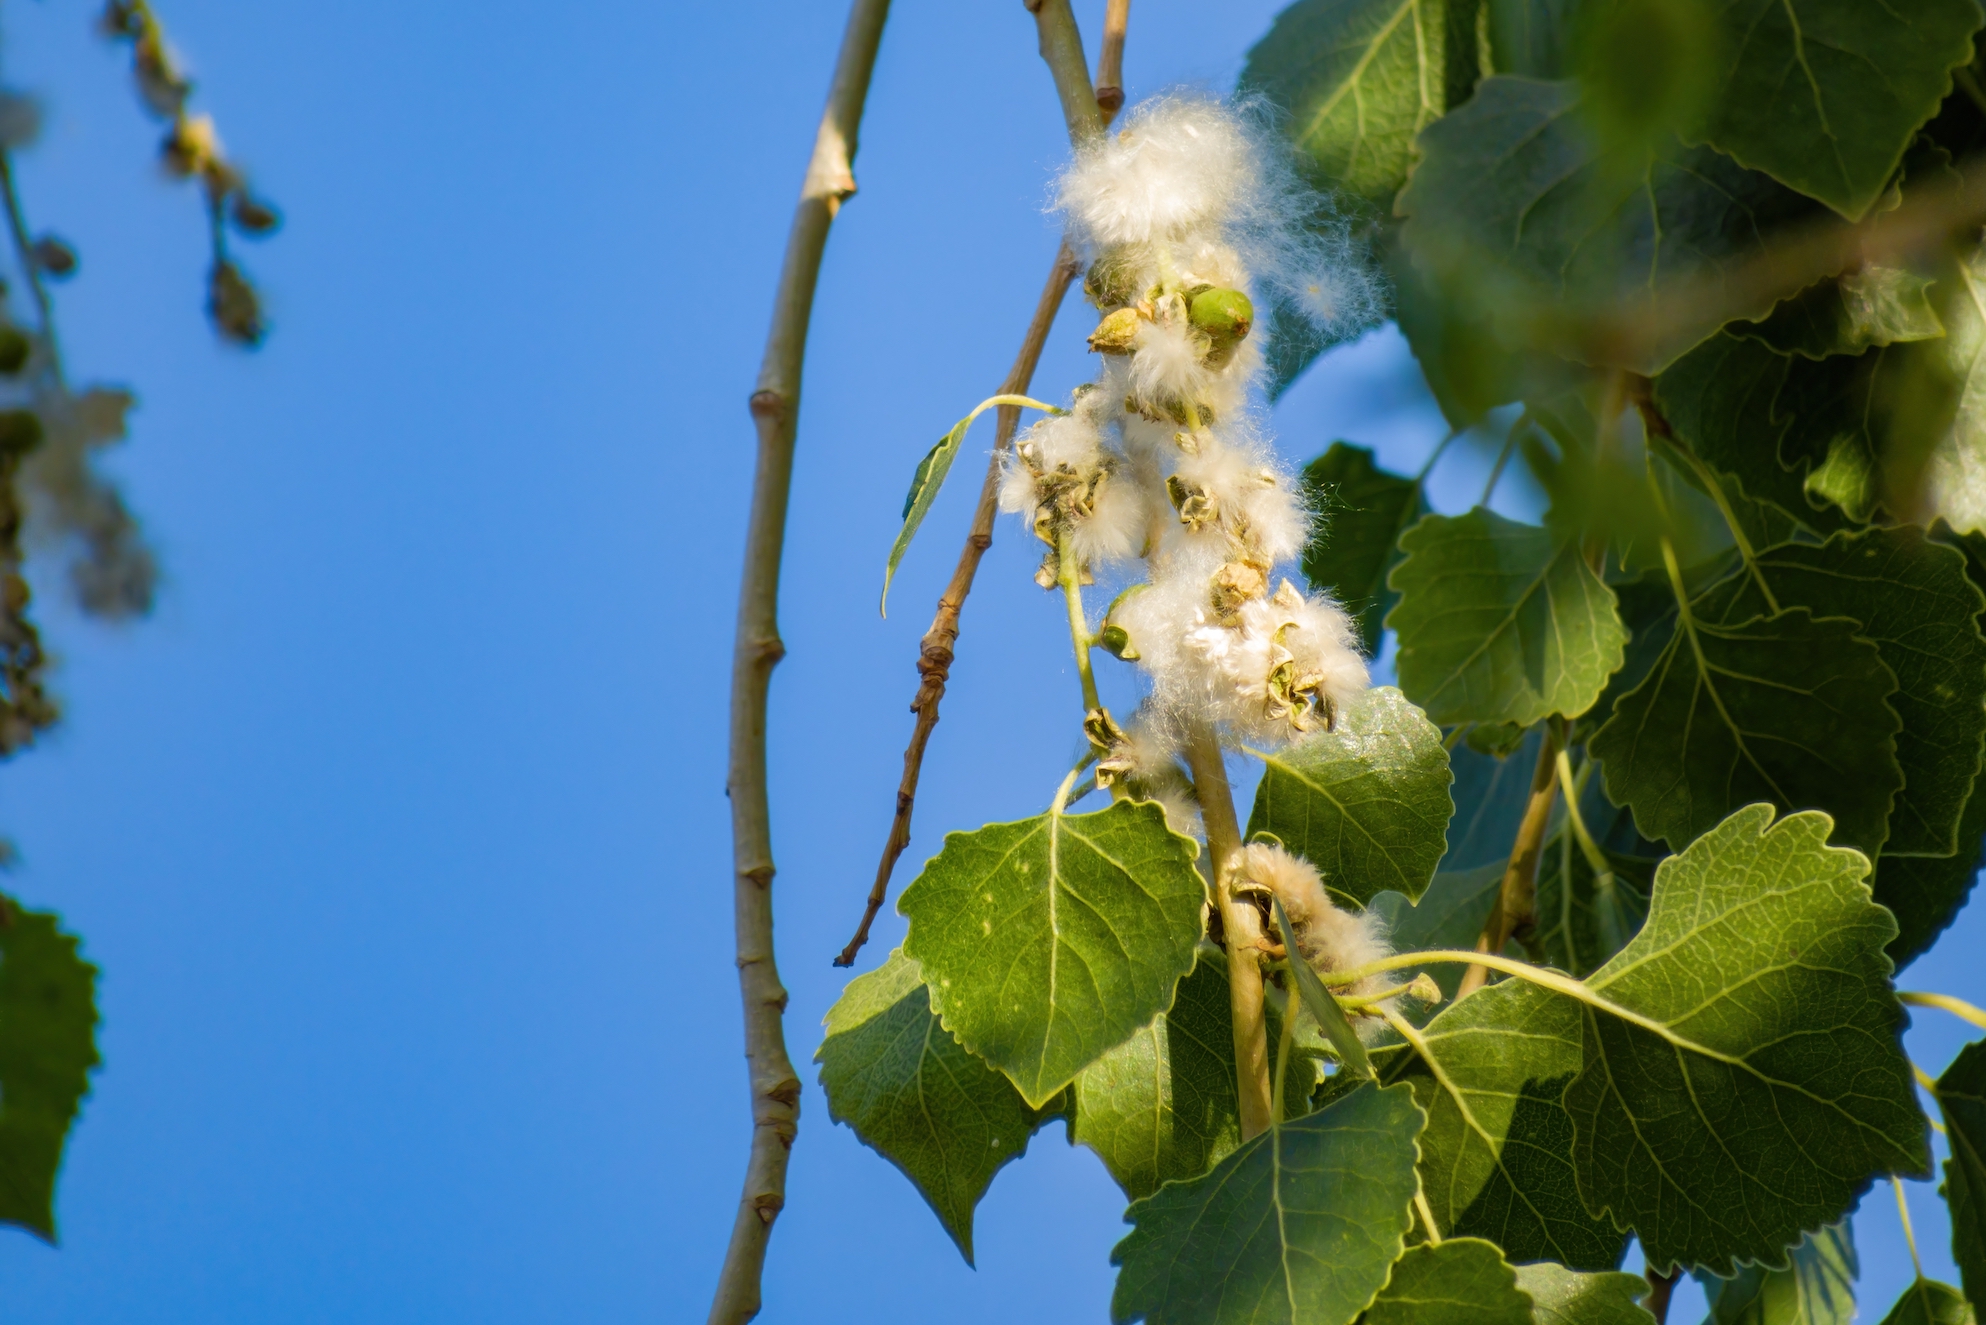
[[(1893, 975), (1986, 850), (1982, 26), (1277, 18), (1243, 87), (1364, 209), (1450, 421), (1549, 509), (1434, 515), (1347, 443), (1309, 467), (1305, 574), (1396, 636), (1398, 689), (1269, 757), (1249, 832), (1402, 954), (1507, 934), (1511, 977), (1456, 999), (1466, 957), (1430, 956), (1450, 1001), (1347, 1053), (1285, 969), (1243, 1140), (1198, 846), (1134, 803), (951, 834), (818, 1061), (967, 1259), (1061, 1118), (1132, 1202), (1120, 1321), (1646, 1323), (1631, 1240), (1718, 1321), (1847, 1319), (1843, 1218), (1932, 1162)], [(1918, 1279), (1899, 1325), (1986, 1303), (1986, 1043), (1934, 1097), (1962, 1291)]]

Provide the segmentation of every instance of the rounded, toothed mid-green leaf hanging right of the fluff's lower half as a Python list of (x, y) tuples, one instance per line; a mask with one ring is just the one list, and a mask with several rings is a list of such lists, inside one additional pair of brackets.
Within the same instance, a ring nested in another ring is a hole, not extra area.
[(1621, 665), (1615, 596), (1575, 544), (1478, 507), (1400, 536), (1400, 689), (1440, 725), (1585, 713)]

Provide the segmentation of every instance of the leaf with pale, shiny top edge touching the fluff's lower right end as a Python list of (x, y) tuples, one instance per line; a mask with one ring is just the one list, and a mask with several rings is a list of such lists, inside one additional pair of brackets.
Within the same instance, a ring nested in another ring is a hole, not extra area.
[(1263, 755), (1247, 830), (1275, 834), (1360, 906), (1384, 888), (1418, 898), (1448, 850), (1450, 781), (1440, 729), (1376, 685), (1333, 731)]

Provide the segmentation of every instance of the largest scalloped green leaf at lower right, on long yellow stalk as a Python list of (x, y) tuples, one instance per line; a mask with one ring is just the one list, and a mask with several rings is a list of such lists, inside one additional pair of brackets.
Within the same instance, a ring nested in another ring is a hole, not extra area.
[[(1648, 1265), (1730, 1275), (1930, 1158), (1869, 862), (1825, 814), (1752, 805), (1662, 862), (1648, 922), (1587, 987), (1565, 1089), (1579, 1194)], [(1789, 1176), (1797, 1174), (1797, 1182)]]

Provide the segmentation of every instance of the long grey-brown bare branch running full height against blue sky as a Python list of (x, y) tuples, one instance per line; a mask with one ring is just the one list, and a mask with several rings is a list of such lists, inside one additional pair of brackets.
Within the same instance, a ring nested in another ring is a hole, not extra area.
[(739, 1325), (759, 1315), (759, 1279), (773, 1220), (786, 1204), (786, 1158), (800, 1120), (800, 1079), (786, 1057), (780, 1017), (786, 989), (773, 961), (773, 826), (765, 785), (765, 707), (773, 665), (786, 648), (779, 638), (779, 560), (786, 540), (792, 445), (800, 411), (800, 362), (814, 284), (828, 226), (856, 191), (856, 131), (868, 97), (876, 48), (890, 0), (854, 0), (834, 62), (828, 105), (786, 236), (786, 258), (773, 302), (751, 415), (759, 427), (745, 574), (739, 586), (737, 646), (731, 663), (731, 852), (737, 922), (739, 993), (745, 1001), (745, 1063), (751, 1079), (751, 1158), (731, 1226), (731, 1246), (711, 1299), (711, 1325)]

